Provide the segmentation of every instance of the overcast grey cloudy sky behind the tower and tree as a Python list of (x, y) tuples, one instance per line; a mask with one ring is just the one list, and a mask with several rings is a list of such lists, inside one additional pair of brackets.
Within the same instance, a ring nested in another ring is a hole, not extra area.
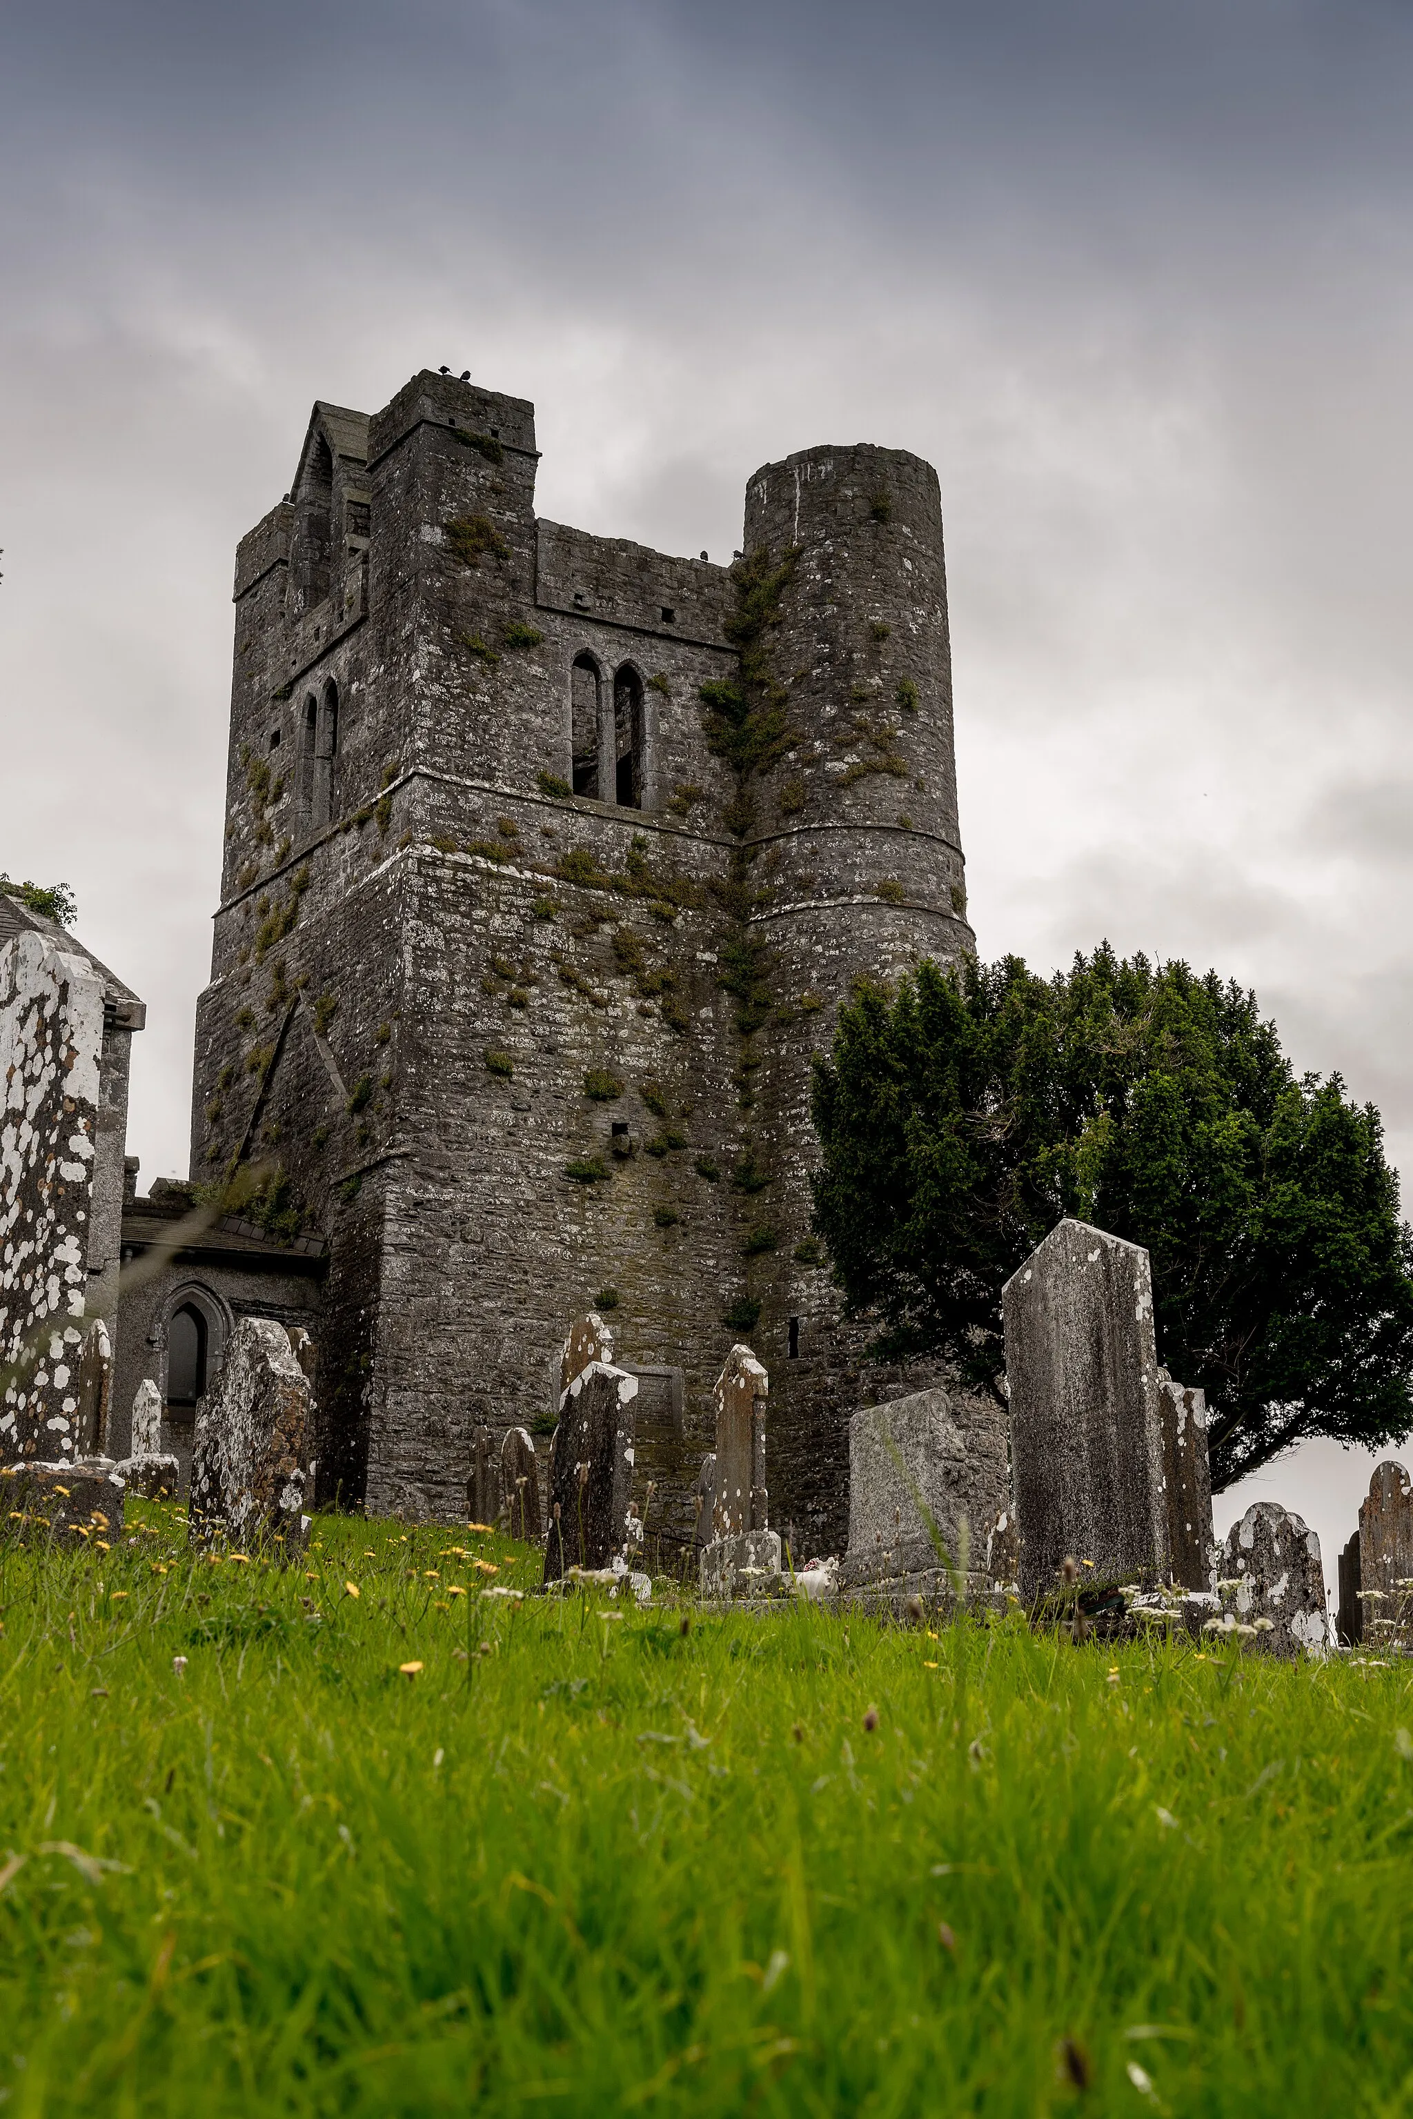
[(667, 551), (790, 449), (930, 458), (983, 954), (1216, 964), (1413, 1172), (1411, 89), (1362, 0), (6, 8), (0, 869), (148, 1002), (144, 1189), (233, 545), (316, 396), (441, 362), (536, 400), (544, 515)]

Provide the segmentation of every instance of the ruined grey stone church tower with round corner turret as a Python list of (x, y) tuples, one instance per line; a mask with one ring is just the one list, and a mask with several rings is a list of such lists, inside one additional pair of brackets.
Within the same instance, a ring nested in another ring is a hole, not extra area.
[(648, 1528), (691, 1536), (744, 1337), (773, 1521), (839, 1547), (811, 1055), (858, 975), (972, 947), (936, 475), (767, 464), (720, 568), (542, 521), (536, 462), (532, 405), (422, 373), (316, 405), (239, 545), (193, 1176), (263, 1163), (328, 1240), (322, 1494), (453, 1519), (597, 1297)]

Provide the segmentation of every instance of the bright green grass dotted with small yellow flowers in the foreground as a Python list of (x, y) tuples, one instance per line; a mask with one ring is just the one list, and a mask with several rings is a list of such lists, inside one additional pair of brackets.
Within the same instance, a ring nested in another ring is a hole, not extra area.
[(1413, 1666), (129, 1517), (0, 1549), (6, 2119), (1409, 2111)]

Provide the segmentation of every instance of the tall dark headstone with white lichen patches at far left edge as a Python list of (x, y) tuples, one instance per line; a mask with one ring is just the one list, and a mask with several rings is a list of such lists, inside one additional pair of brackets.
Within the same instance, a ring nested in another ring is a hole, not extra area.
[(0, 949), (0, 1462), (78, 1454), (104, 981), (44, 934)]

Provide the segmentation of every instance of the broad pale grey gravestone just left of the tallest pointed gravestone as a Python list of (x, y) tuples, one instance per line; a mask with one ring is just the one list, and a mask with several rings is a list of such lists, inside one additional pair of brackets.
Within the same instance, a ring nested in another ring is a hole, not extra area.
[(985, 1447), (991, 1439), (994, 1428), (964, 1432), (945, 1390), (917, 1390), (854, 1413), (849, 1549), (839, 1585), (919, 1568), (979, 1570), (1008, 1498), (1004, 1435), (1000, 1449)]

